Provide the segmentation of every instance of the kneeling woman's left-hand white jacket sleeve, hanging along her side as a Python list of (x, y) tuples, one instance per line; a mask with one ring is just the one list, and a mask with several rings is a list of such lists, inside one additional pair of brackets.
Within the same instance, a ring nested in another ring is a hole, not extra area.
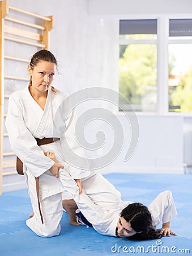
[[(30, 131), (27, 129), (23, 119), (23, 110), (20, 106), (18, 96), (11, 94), (8, 102), (6, 128), (12, 151), (22, 160), (25, 166), (36, 177), (50, 170), (54, 161), (47, 158)], [(33, 118), (34, 122), (35, 119)]]

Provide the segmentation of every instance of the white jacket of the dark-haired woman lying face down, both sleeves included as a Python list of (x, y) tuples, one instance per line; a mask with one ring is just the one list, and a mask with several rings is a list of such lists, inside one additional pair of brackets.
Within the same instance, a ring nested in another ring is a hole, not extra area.
[[(64, 176), (64, 182), (67, 182), (68, 191), (73, 195), (79, 210), (83, 213), (84, 217), (86, 217), (87, 220), (93, 225), (93, 228), (98, 233), (105, 236), (117, 236), (117, 222), (120, 218), (120, 213), (122, 209), (134, 202), (121, 201), (116, 208), (104, 209), (99, 204), (95, 204), (86, 194), (86, 191), (84, 191), (84, 189), (82, 194), (79, 195), (78, 188), (76, 188), (76, 184), (74, 183), (74, 181), (66, 172), (63, 174), (62, 177)], [(148, 209), (151, 212), (153, 228), (158, 226), (161, 222), (166, 223), (172, 220), (172, 218), (177, 215), (172, 192), (170, 191), (161, 192), (155, 198), (155, 200), (152, 201)]]

